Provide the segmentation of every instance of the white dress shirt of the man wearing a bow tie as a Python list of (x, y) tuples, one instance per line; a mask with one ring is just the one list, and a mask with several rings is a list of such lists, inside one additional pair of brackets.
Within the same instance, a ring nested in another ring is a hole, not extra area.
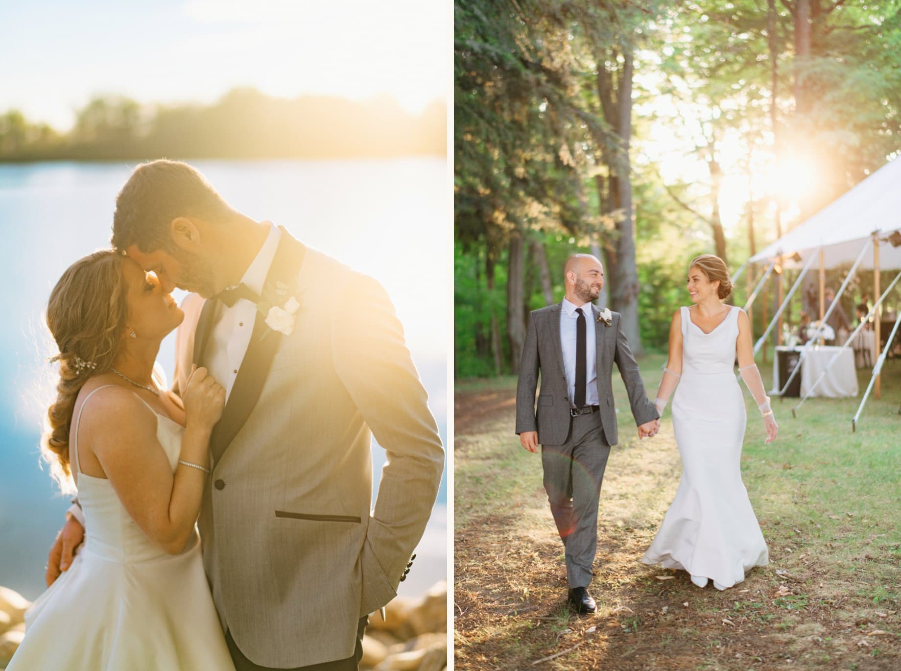
[[(241, 277), (241, 283), (258, 295), (263, 291), (263, 284), (266, 282), (269, 267), (278, 248), (278, 239), (281, 237), (281, 231), (278, 231), (278, 227), (272, 222), (264, 223), (269, 227), (268, 237), (259, 248), (257, 256), (250, 262), (244, 277)], [(250, 334), (253, 332), (253, 322), (256, 318), (257, 306), (244, 298), (239, 298), (232, 307), (220, 304), (214, 317), (210, 340), (206, 343), (204, 361), (210, 375), (225, 387), (226, 401), (232, 395), (232, 386), (250, 345)]]

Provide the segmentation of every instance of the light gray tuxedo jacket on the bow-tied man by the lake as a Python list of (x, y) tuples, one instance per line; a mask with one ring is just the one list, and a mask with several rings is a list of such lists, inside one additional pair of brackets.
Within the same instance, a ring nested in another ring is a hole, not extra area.
[[(284, 229), (275, 281), (300, 303), (295, 329), (266, 333), (257, 315), (210, 440), (198, 526), (223, 626), (251, 661), (284, 668), (353, 655), (359, 617), (395, 596), (423, 535), (444, 452), (378, 282)], [(213, 322), (215, 301), (190, 298), (177, 388)], [(388, 460), (370, 513), (372, 434)]]

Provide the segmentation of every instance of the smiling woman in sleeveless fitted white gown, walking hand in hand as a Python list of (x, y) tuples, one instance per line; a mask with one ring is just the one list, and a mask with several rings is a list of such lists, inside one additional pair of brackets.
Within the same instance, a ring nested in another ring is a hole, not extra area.
[(763, 416), (767, 443), (776, 439), (778, 426), (754, 364), (748, 315), (723, 304), (732, 291), (723, 259), (712, 254), (695, 258), (687, 288), (694, 305), (673, 314), (669, 361), (655, 403), (662, 414), (678, 385), (672, 415), (682, 479), (642, 561), (684, 569), (698, 587), (712, 580), (724, 590), (741, 583), (752, 567), (769, 562), (742, 483), (747, 417), (735, 379), (736, 354), (742, 379)]

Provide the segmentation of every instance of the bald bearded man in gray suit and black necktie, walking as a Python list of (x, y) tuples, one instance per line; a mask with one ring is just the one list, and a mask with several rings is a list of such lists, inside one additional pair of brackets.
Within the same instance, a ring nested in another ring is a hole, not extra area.
[[(613, 364), (623, 377), (640, 438), (660, 429), (619, 313), (591, 302), (604, 287), (604, 268), (574, 254), (564, 268), (563, 301), (532, 313), (516, 387), (516, 433), (523, 448), (542, 446), (544, 489), (566, 549), (569, 604), (595, 612), (587, 587), (597, 547), (597, 504), (610, 447), (617, 442)], [(542, 387), (535, 412), (535, 386)]]

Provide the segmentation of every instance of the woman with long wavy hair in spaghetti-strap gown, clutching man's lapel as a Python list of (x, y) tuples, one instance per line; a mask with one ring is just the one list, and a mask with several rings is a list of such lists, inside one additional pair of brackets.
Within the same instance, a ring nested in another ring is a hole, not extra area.
[(182, 404), (151, 375), (183, 318), (112, 250), (78, 260), (50, 294), (59, 384), (42, 448), (77, 485), (86, 541), (26, 612), (7, 671), (234, 668), (195, 530), (225, 393), (197, 368)]

